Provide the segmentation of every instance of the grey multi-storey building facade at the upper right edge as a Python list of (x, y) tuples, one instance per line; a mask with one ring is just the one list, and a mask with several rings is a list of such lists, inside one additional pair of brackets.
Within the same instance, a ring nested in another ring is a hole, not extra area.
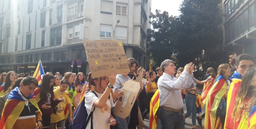
[(224, 50), (256, 57), (256, 1), (223, 0), (223, 3)]

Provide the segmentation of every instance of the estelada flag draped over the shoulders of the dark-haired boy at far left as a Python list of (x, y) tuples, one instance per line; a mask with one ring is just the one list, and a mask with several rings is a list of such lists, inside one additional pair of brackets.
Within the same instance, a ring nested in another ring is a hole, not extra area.
[(0, 129), (11, 129), (13, 127), (20, 113), (23, 111), (25, 103), (30, 102), (40, 111), (37, 105), (37, 100), (33, 94), (25, 98), (19, 93), (19, 87), (16, 87), (12, 92), (10, 92), (3, 108)]

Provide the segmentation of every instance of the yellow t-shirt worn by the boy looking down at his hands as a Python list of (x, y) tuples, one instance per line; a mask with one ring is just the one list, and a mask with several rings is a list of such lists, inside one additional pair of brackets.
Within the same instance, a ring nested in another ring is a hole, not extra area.
[(54, 91), (54, 100), (57, 98), (63, 97), (65, 99), (65, 102), (60, 102), (57, 105), (57, 114), (52, 113), (51, 115), (51, 123), (56, 123), (61, 121), (62, 119), (65, 119), (64, 110), (67, 104), (70, 104), (70, 99), (67, 94), (69, 94), (67, 91), (60, 92), (59, 88), (55, 89)]

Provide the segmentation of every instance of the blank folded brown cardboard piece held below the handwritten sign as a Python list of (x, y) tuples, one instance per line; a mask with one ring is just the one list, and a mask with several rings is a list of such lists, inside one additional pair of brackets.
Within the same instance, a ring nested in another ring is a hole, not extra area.
[(114, 113), (115, 115), (124, 119), (129, 116), (132, 106), (136, 101), (140, 91), (140, 83), (137, 81), (128, 80), (125, 82), (122, 91), (123, 93), (120, 94), (117, 99)]

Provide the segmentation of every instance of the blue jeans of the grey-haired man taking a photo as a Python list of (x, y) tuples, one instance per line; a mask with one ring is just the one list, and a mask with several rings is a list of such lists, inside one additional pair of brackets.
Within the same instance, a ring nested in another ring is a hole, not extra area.
[(171, 112), (160, 108), (159, 118), (162, 129), (185, 129), (182, 112)]

